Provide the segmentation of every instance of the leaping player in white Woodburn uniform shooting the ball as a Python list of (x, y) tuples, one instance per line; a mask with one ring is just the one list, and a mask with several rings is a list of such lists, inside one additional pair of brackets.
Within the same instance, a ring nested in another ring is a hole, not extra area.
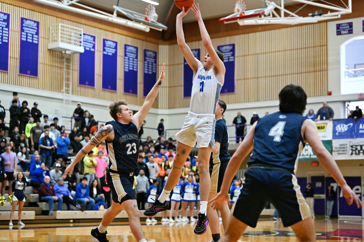
[[(189, 10), (194, 13), (198, 21), (202, 43), (207, 50), (203, 63), (193, 56), (191, 49), (185, 42), (182, 18), (187, 15)], [(168, 209), (166, 199), (178, 183), (182, 167), (197, 141), (201, 206), (194, 233), (203, 234), (206, 232), (209, 222), (206, 214), (210, 191), (209, 159), (214, 148), (215, 110), (224, 83), (225, 66), (223, 64), (223, 54), (213, 48), (210, 36), (203, 24), (198, 4), (193, 4), (187, 10), (184, 7), (182, 8), (181, 13), (177, 15), (176, 32), (178, 46), (193, 70), (190, 111), (185, 118), (181, 131), (176, 134), (177, 151), (166, 185), (158, 200), (149, 209), (145, 210), (144, 214), (154, 216), (158, 212)]]

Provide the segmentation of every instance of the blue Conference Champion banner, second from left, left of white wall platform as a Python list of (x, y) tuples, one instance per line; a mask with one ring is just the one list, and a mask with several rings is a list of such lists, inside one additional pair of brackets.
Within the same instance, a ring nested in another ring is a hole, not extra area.
[(38, 77), (39, 21), (20, 17), (19, 74)]

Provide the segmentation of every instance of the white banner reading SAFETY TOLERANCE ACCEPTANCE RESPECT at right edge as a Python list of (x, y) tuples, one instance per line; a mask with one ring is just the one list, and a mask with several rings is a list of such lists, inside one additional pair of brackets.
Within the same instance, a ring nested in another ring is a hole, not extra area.
[(364, 159), (364, 139), (332, 140), (332, 156), (335, 160)]

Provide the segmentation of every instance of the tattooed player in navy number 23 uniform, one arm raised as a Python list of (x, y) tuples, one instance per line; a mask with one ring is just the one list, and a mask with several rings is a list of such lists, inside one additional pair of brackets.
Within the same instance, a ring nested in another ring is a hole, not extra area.
[(110, 115), (114, 120), (107, 122), (105, 126), (100, 128), (64, 171), (66, 176), (68, 173), (71, 176), (75, 164), (96, 145), (106, 141), (106, 149), (110, 157), (106, 180), (112, 190), (112, 204), (104, 213), (100, 225), (91, 230), (91, 235), (100, 242), (108, 242), (106, 238), (107, 226), (123, 209), (128, 214), (130, 230), (134, 237), (139, 242), (147, 242), (139, 220), (139, 209), (132, 187), (138, 160), (138, 130), (157, 97), (164, 77), (165, 64), (163, 63), (159, 79), (145, 98), (141, 109), (134, 116), (131, 115), (132, 112), (127, 107), (126, 101), (120, 100), (110, 104)]

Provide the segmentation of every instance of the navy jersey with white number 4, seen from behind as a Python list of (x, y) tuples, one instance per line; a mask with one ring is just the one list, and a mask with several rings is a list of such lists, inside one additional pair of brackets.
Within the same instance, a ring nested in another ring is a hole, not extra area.
[(301, 127), (306, 118), (300, 114), (275, 112), (258, 120), (254, 148), (248, 166), (262, 164), (295, 173), (304, 145)]

